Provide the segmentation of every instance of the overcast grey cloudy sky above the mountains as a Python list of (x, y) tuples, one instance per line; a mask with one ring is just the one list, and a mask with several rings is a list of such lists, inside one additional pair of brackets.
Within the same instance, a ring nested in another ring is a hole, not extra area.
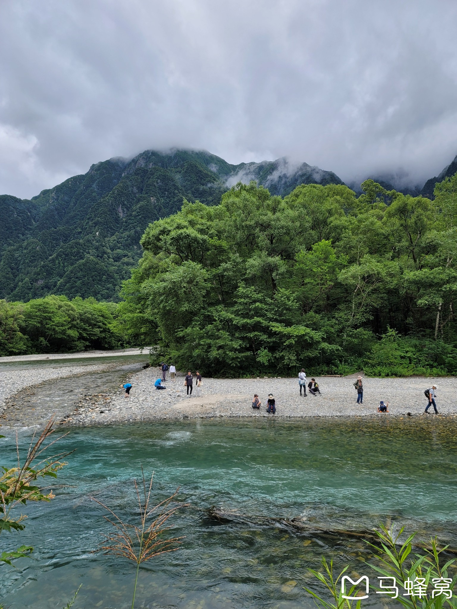
[(0, 0), (0, 194), (171, 147), (422, 186), (457, 154), (455, 32), (455, 0)]

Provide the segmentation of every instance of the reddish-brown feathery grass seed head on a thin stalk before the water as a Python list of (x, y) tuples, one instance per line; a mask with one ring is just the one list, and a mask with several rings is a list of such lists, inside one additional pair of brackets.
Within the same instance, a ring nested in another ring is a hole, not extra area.
[(174, 500), (179, 492), (179, 488), (164, 501), (149, 507), (151, 502), (152, 481), (154, 472), (146, 485), (143, 467), (141, 468), (141, 492), (136, 480), (135, 492), (140, 510), (140, 524), (131, 524), (121, 520), (113, 510), (103, 504), (98, 499), (92, 498), (97, 504), (101, 505), (110, 516), (104, 516), (108, 523), (112, 524), (114, 531), (108, 535), (103, 535), (100, 550), (105, 554), (113, 554), (132, 560), (136, 564), (135, 585), (133, 586), (132, 609), (135, 605), (136, 585), (138, 583), (138, 572), (141, 563), (144, 563), (160, 554), (174, 552), (182, 543), (183, 537), (163, 538), (163, 534), (171, 529), (165, 526), (169, 518), (179, 510), (180, 507), (187, 507), (188, 504), (177, 504)]

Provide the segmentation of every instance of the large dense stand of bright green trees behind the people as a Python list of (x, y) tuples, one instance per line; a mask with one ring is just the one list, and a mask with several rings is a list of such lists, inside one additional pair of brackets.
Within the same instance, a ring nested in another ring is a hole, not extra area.
[(208, 375), (457, 371), (457, 175), (436, 199), (241, 183), (149, 225), (119, 324)]

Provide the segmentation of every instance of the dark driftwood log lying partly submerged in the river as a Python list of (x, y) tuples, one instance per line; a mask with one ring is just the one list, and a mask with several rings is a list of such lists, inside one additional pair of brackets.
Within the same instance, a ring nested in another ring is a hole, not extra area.
[[(271, 516), (247, 515), (236, 512), (235, 510), (223, 510), (214, 505), (207, 510), (207, 515), (212, 520), (217, 520), (218, 522), (225, 524), (243, 523), (257, 524), (259, 526), (282, 526), (296, 533), (306, 533), (307, 535), (314, 535), (315, 537), (349, 537), (367, 540), (372, 543), (380, 543), (379, 537), (370, 529), (329, 529), (306, 523), (301, 518), (272, 518)], [(431, 550), (431, 546), (421, 543), (419, 540), (416, 543), (413, 542), (413, 546), (420, 549)], [(457, 555), (457, 549), (455, 548), (447, 547), (445, 552)]]

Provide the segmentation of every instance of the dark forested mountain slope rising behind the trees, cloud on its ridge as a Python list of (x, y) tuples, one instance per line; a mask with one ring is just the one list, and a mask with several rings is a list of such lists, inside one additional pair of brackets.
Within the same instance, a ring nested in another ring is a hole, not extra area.
[(178, 211), (183, 199), (217, 205), (228, 186), (250, 179), (281, 195), (299, 184), (342, 183), (284, 159), (232, 165), (205, 151), (146, 150), (97, 163), (32, 200), (1, 195), (0, 298), (118, 300), (150, 222)]

